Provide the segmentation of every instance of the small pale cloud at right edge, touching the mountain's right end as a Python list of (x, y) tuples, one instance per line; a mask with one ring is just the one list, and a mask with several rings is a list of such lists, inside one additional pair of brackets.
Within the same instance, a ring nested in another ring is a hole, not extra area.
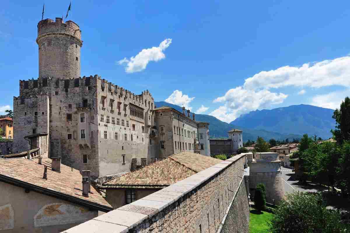
[(340, 104), (349, 96), (350, 89), (331, 92), (325, 95), (316, 95), (311, 100), (311, 105), (315, 105), (322, 108), (336, 109), (340, 107)]

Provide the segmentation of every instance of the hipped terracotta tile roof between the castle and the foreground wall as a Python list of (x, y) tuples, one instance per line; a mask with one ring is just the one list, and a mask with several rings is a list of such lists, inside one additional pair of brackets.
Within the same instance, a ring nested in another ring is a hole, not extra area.
[(105, 182), (101, 188), (165, 188), (222, 160), (181, 152)]

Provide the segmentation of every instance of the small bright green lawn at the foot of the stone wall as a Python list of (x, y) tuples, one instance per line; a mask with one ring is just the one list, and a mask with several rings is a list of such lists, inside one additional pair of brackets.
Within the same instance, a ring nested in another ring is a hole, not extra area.
[(270, 221), (271, 217), (272, 213), (250, 209), (249, 232), (266, 233), (266, 230), (268, 229), (267, 222)]

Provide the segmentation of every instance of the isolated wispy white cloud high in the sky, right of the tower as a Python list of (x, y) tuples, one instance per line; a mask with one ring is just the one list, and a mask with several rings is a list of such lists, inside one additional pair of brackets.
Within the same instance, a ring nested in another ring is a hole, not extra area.
[(165, 39), (160, 43), (158, 47), (152, 47), (150, 49), (142, 49), (135, 57), (130, 59), (124, 58), (117, 61), (118, 65), (125, 65), (126, 73), (140, 72), (146, 69), (147, 64), (150, 61), (159, 61), (165, 58), (163, 51), (169, 47), (172, 43), (172, 39)]

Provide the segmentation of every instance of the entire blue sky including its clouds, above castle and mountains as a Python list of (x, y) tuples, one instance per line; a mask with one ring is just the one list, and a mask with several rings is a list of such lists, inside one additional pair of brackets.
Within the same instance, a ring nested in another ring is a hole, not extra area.
[[(70, 1), (45, 1), (45, 18)], [(1, 3), (0, 114), (37, 78), (43, 1)], [(349, 1), (82, 1), (81, 76), (230, 122), (292, 104), (336, 108), (350, 86)], [(67, 19), (68, 20), (68, 19)]]

